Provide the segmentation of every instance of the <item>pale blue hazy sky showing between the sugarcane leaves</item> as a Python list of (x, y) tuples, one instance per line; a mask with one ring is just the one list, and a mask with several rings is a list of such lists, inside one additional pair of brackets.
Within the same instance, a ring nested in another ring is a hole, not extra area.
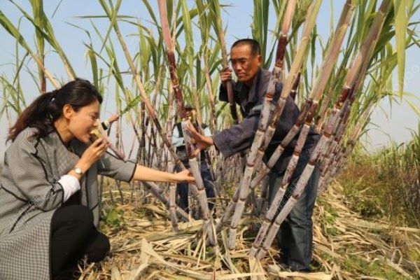
[[(104, 12), (99, 5), (99, 1), (94, 0), (62, 0), (61, 4), (57, 8), (57, 4), (60, 0), (48, 0), (44, 1), (44, 10), (46, 15), (50, 17), (52, 26), (55, 30), (57, 40), (62, 45), (64, 52), (69, 57), (78, 76), (92, 80), (90, 71), (90, 62), (86, 57), (86, 48), (83, 43), (88, 43), (89, 39), (85, 31), (73, 27), (77, 25), (84, 29), (90, 30), (90, 34), (93, 38), (93, 44), (95, 49), (99, 49), (101, 43), (95, 40), (94, 31), (89, 20), (77, 18), (82, 15), (104, 15)], [(149, 1), (156, 15), (158, 15), (158, 8), (156, 1)], [(223, 1), (221, 3), (230, 4), (229, 7), (225, 8), (223, 12), (223, 25), (227, 25), (226, 31), (226, 43), (232, 45), (237, 38), (250, 38), (251, 37), (251, 21), (253, 15), (253, 1), (252, 0), (230, 0)], [(31, 8), (29, 1), (27, 0), (16, 0), (22, 8), (27, 10), (31, 14)], [(48, 5), (46, 5), (48, 3)], [(189, 1), (190, 4), (193, 1)], [(339, 14), (341, 13), (342, 5), (344, 0), (332, 1), (334, 5), (334, 20), (337, 22)], [(318, 15), (317, 25), (318, 33), (321, 36), (324, 34), (325, 40), (328, 38), (328, 31), (330, 30), (330, 8), (331, 1), (324, 0), (321, 6), (321, 10)], [(57, 10), (55, 10), (57, 8)], [(34, 27), (25, 19), (21, 19), (20, 11), (15, 8), (9, 1), (0, 1), (0, 10), (9, 18), (15, 25), (20, 22), (20, 30), (25, 38), (27, 38), (30, 45), (34, 45)], [(54, 16), (52, 17), (52, 15)], [(272, 31), (275, 28), (274, 9), (270, 8), (269, 18), (269, 30)], [(148, 12), (144, 7), (143, 1), (140, 0), (124, 0), (120, 8), (120, 15), (132, 15), (139, 19), (144, 25), (152, 25), (148, 22)], [(418, 11), (412, 21), (420, 20), (420, 12)], [(102, 34), (106, 33), (106, 29), (109, 27), (109, 20), (106, 19), (94, 19), (95, 25), (99, 28)], [(130, 36), (134, 34), (136, 29), (131, 25), (120, 24), (121, 31), (126, 35), (125, 39), (127, 44), (134, 53), (137, 48), (137, 38)], [(195, 34), (197, 38), (198, 34)], [(119, 44), (116, 41), (115, 35), (111, 32), (111, 38), (115, 41), (114, 47), (120, 54), (118, 62), (122, 69), (126, 65), (125, 57), (120, 49)], [(0, 27), (0, 74), (5, 74), (13, 77), (14, 69), (13, 63), (15, 63), (15, 40), (10, 34), (8, 34), (3, 28)], [(405, 66), (405, 92), (410, 92), (414, 95), (412, 102), (417, 108), (420, 108), (420, 48), (410, 48), (407, 50), (406, 66)], [(22, 56), (22, 50), (20, 51)], [(62, 64), (57, 59), (57, 55), (48, 49), (46, 55), (45, 64), (50, 72), (62, 80), (66, 80), (66, 73), (62, 69)], [(36, 71), (34, 62), (29, 63), (31, 71)], [(31, 80), (29, 74), (22, 73), (22, 88), (27, 95), (27, 100), (30, 102), (37, 96), (36, 88)], [(394, 85), (396, 83), (396, 77), (394, 79)], [(49, 87), (51, 89), (51, 86)], [(396, 89), (395, 89), (396, 90)], [(1, 88), (0, 88), (1, 93)], [(0, 100), (0, 104), (2, 100)], [(109, 101), (107, 104), (102, 106), (102, 116), (107, 118), (113, 113), (113, 105)], [(372, 114), (372, 125), (366, 137), (363, 137), (364, 141), (367, 141), (367, 149), (372, 151), (381, 146), (387, 145), (391, 139), (397, 143), (406, 142), (411, 138), (412, 131), (417, 131), (419, 124), (419, 116), (417, 116), (412, 109), (409, 108), (406, 102), (402, 104), (392, 104), (390, 106), (387, 100), (381, 103), (381, 107), (374, 111)], [(6, 118), (0, 119), (0, 126), (7, 127)], [(6, 129), (0, 130), (0, 155), (3, 155), (5, 149), (4, 139), (6, 139)]]

